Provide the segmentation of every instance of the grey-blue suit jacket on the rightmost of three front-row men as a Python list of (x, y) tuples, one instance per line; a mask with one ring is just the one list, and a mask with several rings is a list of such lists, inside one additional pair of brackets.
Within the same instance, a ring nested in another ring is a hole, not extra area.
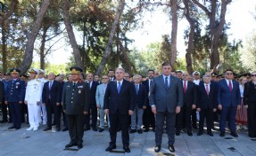
[(174, 113), (176, 106), (183, 106), (183, 87), (177, 77), (169, 75), (169, 88), (164, 87), (163, 75), (153, 79), (150, 89), (150, 105), (156, 106), (157, 112)]

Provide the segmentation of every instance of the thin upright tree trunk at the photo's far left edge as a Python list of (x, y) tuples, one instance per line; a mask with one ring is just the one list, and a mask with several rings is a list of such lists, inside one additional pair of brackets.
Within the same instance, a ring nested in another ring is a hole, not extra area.
[(5, 26), (4, 22), (2, 23), (2, 62), (3, 62), (3, 74), (7, 71), (7, 59), (6, 59), (6, 35), (5, 35)]

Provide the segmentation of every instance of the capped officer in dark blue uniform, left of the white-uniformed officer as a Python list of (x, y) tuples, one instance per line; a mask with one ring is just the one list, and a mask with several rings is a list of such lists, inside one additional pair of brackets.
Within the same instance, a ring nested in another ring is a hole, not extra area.
[(11, 69), (12, 80), (7, 82), (4, 103), (10, 106), (10, 113), (12, 113), (12, 126), (8, 129), (21, 129), (21, 109), (25, 97), (25, 82), (19, 78), (20, 72), (17, 68)]

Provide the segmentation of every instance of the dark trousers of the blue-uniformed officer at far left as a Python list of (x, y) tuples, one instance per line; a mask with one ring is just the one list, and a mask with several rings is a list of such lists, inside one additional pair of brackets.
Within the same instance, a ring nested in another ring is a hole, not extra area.
[(19, 102), (8, 102), (10, 112), (12, 113), (12, 123), (15, 128), (21, 128), (21, 109), (22, 104)]

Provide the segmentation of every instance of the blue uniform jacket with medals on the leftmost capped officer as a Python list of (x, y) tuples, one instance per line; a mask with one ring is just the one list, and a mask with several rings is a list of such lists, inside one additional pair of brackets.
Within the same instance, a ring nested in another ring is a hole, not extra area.
[(7, 93), (5, 101), (19, 102), (25, 98), (25, 82), (18, 78), (16, 81), (10, 80), (7, 82)]

